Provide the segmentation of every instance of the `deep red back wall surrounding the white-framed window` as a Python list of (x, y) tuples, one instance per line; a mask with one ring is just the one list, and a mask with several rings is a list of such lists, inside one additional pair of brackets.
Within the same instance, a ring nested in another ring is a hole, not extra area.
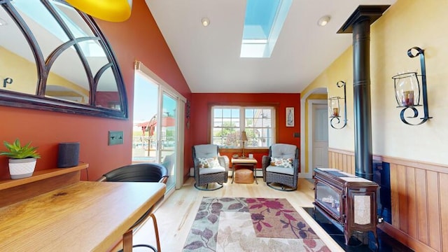
[[(211, 113), (209, 108), (212, 104), (221, 105), (251, 105), (251, 104), (271, 104), (279, 109), (276, 120), (278, 127), (276, 132), (276, 142), (283, 144), (295, 144), (300, 148), (300, 137), (293, 137), (295, 132), (300, 132), (300, 94), (277, 94), (277, 93), (193, 93), (191, 94), (191, 120), (190, 134), (191, 146), (196, 144), (210, 143), (210, 123)], [(294, 108), (294, 127), (286, 127), (286, 108)], [(191, 148), (191, 146), (189, 148)], [(258, 160), (257, 167), (261, 167), (261, 157), (267, 153), (254, 153), (254, 158)], [(190, 155), (191, 150), (186, 153)], [(227, 155), (227, 154), (226, 154)], [(231, 155), (228, 155), (232, 158)], [(193, 166), (193, 160), (189, 160)]]

